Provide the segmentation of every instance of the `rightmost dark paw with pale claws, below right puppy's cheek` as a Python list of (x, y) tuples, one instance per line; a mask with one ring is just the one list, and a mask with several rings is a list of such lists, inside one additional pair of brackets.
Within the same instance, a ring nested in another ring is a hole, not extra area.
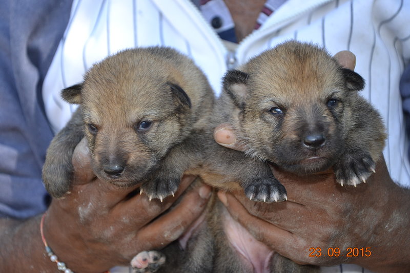
[(366, 183), (375, 168), (376, 162), (369, 154), (346, 154), (334, 165), (336, 180), (342, 186)]

